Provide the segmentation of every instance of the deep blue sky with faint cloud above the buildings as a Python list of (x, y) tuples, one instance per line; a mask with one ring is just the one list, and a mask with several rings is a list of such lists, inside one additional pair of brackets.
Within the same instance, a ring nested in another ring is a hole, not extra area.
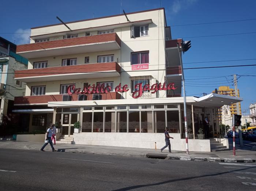
[[(1, 7), (5, 8), (1, 9), (0, 36), (15, 44), (24, 44), (29, 43), (31, 27), (60, 23), (56, 16), (70, 22), (120, 14), (121, 9), (128, 13), (160, 6), (165, 8), (172, 39), (191, 40), (192, 47), (182, 57), (184, 68), (256, 63), (255, 0), (2, 1)], [(244, 21), (226, 22), (237, 20)], [(229, 62), (223, 62), (227, 60)], [(244, 99), (241, 102), (242, 112), (245, 110), (248, 114), (249, 105), (256, 102), (256, 66), (184, 70), (186, 94), (200, 97), (219, 86), (234, 88), (233, 74), (238, 75), (238, 89)]]

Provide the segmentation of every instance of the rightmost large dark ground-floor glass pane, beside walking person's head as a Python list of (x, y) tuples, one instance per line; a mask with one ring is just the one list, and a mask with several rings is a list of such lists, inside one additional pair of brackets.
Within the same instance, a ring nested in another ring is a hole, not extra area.
[(180, 132), (180, 118), (179, 111), (168, 111), (167, 110), (167, 127), (169, 127), (170, 133), (179, 133)]

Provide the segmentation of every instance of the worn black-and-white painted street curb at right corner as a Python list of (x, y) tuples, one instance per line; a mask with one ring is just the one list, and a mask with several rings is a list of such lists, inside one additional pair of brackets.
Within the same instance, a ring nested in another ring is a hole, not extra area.
[(255, 163), (255, 159), (221, 159), (221, 158), (213, 158), (213, 157), (189, 157), (189, 156), (167, 156), (168, 160), (185, 160), (185, 161), (202, 161), (202, 162), (217, 162), (217, 163)]

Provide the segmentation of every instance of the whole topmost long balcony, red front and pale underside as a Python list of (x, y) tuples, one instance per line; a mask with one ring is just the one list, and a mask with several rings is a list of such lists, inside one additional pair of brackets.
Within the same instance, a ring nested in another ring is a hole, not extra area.
[(117, 50), (121, 40), (116, 33), (82, 36), (77, 38), (52, 40), (47, 42), (22, 44), (16, 53), (25, 58), (42, 58), (84, 52)]

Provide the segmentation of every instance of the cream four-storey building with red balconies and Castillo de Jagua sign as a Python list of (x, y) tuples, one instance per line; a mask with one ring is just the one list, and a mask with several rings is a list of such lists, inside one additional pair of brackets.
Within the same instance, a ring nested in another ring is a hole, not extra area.
[[(128, 19), (127, 19), (128, 18)], [(29, 129), (58, 122), (75, 144), (161, 148), (170, 128), (174, 150), (185, 149), (181, 65), (165, 10), (151, 9), (31, 28), (30, 44), (17, 47), (29, 59), (15, 71), (26, 95), (14, 112), (30, 113)], [(219, 133), (218, 107), (241, 98), (209, 94), (187, 97), (191, 151), (210, 151), (197, 139), (204, 118)], [(74, 123), (79, 121), (79, 133)]]

